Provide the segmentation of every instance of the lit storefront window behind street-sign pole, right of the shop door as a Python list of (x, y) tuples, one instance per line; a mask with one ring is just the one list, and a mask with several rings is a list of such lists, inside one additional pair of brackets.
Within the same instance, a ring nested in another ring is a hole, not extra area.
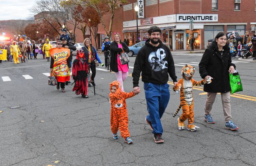
[(187, 37), (187, 50), (190, 50), (190, 36), (194, 38), (193, 47), (194, 49), (200, 49), (201, 45), (201, 30), (193, 30), (192, 33), (190, 33), (190, 30), (187, 30), (186, 37)]

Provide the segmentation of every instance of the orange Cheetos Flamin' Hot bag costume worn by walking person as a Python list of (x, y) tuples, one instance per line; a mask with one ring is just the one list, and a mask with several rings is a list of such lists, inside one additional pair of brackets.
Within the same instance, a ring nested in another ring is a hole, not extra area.
[(68, 48), (51, 48), (50, 55), (54, 60), (53, 73), (58, 82), (69, 81), (70, 71), (67, 65), (67, 58), (70, 56)]

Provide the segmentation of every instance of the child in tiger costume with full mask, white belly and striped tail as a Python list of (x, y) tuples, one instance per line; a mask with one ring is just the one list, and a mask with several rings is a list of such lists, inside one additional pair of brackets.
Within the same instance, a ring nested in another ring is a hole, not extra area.
[(185, 128), (185, 121), (188, 119), (188, 125), (187, 129), (190, 131), (195, 131), (197, 127), (194, 125), (194, 100), (193, 100), (193, 92), (192, 92), (192, 86), (201, 86), (203, 84), (209, 84), (211, 83), (211, 79), (208, 79), (205, 81), (204, 79), (201, 81), (195, 81), (192, 79), (194, 74), (195, 68), (191, 65), (185, 65), (181, 70), (182, 78), (178, 81), (178, 84), (173, 87), (173, 90), (178, 92), (181, 92), (181, 103), (178, 107), (177, 111), (174, 113), (173, 117), (175, 117), (180, 109), (182, 108), (182, 115), (180, 118), (178, 118), (178, 127), (179, 130)]

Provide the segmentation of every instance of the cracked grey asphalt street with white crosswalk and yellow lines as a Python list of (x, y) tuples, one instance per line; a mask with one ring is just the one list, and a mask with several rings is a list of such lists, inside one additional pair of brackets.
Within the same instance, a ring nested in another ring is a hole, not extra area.
[[(42, 55), (38, 57), (28, 63), (0, 64), (1, 166), (256, 165), (255, 62), (232, 59), (244, 89), (231, 96), (231, 114), (239, 126), (238, 131), (224, 129), (220, 95), (212, 110), (216, 123), (204, 122), (206, 94), (202, 87), (193, 88), (195, 124), (200, 128), (195, 132), (179, 131), (177, 118), (172, 114), (180, 104), (180, 95), (171, 90), (162, 118), (165, 142), (156, 144), (145, 122), (147, 108), (141, 88), (139, 95), (127, 99), (129, 130), (134, 141), (128, 145), (122, 138), (111, 137), (108, 83), (115, 80), (114, 73), (99, 67), (95, 78), (96, 95), (93, 95), (93, 88), (88, 88), (89, 98), (83, 99), (72, 92), (71, 85), (66, 86), (66, 93), (49, 86), (50, 64)], [(173, 57), (178, 79), (186, 63), (196, 68), (194, 79), (201, 80), (198, 63), (202, 53), (174, 54)], [(103, 56), (100, 58), (104, 61)], [(134, 60), (135, 57), (130, 58), (129, 66), (133, 66)], [(129, 70), (124, 82), (127, 92), (132, 91), (133, 69)], [(169, 84), (172, 89), (172, 82)], [(139, 85), (143, 87), (142, 82)], [(10, 108), (14, 106), (19, 108)], [(55, 163), (57, 160), (59, 163)]]

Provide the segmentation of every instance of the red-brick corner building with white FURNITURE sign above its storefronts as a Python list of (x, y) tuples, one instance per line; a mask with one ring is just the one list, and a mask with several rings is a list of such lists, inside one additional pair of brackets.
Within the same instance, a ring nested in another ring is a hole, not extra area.
[[(249, 31), (252, 36), (256, 30), (255, 0), (144, 0), (143, 4), (144, 18), (138, 19), (139, 41), (145, 41), (147, 29), (156, 25), (162, 30), (161, 40), (171, 50), (189, 50), (189, 35), (195, 38), (195, 49), (204, 49), (207, 40), (220, 31), (238, 31), (240, 35)], [(137, 0), (123, 4), (115, 12), (112, 28), (113, 33), (121, 33), (122, 40), (129, 40), (130, 45), (137, 42), (136, 5)], [(104, 17), (110, 18), (110, 14)], [(193, 20), (192, 33), (190, 20)], [(98, 44), (102, 44), (104, 36), (100, 24)]]

